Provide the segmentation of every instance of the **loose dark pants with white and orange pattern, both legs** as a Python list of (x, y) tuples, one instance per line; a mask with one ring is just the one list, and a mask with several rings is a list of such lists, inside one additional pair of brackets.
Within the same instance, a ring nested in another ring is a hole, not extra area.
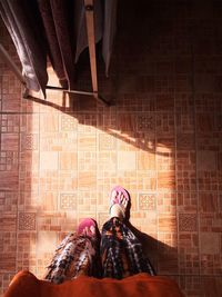
[(154, 275), (134, 234), (119, 218), (111, 218), (102, 227), (100, 247), (97, 238), (69, 234), (57, 248), (44, 279), (61, 284), (80, 275), (122, 279), (139, 273)]

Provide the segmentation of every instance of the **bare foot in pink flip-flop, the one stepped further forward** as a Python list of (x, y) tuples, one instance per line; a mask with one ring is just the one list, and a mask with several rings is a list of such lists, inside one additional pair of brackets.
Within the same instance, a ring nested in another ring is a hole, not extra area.
[(110, 217), (118, 217), (121, 220), (125, 218), (125, 212), (129, 204), (129, 195), (125, 191), (121, 191), (121, 188), (113, 189), (111, 192), (111, 207)]

